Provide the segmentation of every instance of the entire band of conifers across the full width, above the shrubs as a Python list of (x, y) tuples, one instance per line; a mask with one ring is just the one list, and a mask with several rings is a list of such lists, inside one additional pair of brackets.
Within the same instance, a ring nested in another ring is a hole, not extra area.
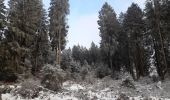
[(0, 81), (9, 74), (37, 75), (47, 63), (77, 73), (88, 66), (100, 78), (108, 75), (104, 71), (115, 77), (124, 70), (134, 80), (164, 80), (170, 72), (169, 0), (146, 0), (144, 10), (132, 3), (119, 17), (106, 2), (99, 11), (100, 46), (92, 42), (89, 49), (65, 49), (68, 0), (51, 0), (49, 15), (42, 0), (10, 0), (8, 5), (0, 1)]

